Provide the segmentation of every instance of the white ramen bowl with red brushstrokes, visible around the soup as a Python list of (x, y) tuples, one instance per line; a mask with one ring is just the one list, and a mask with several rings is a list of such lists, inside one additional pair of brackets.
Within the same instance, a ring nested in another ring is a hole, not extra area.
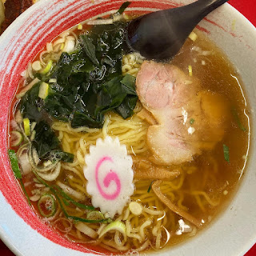
[[(134, 0), (127, 11), (162, 10), (194, 2), (186, 0)], [(93, 247), (79, 246), (59, 236), (31, 210), (10, 169), (7, 154), (10, 104), (23, 70), (36, 54), (58, 34), (79, 22), (101, 14), (113, 14), (122, 1), (40, 1), (18, 17), (0, 38), (0, 235), (17, 255), (93, 255)], [(244, 175), (234, 198), (218, 218), (194, 238), (163, 250), (158, 255), (243, 255), (256, 242), (256, 29), (237, 10), (224, 4), (199, 23), (202, 30), (234, 64), (250, 102), (250, 152)]]

